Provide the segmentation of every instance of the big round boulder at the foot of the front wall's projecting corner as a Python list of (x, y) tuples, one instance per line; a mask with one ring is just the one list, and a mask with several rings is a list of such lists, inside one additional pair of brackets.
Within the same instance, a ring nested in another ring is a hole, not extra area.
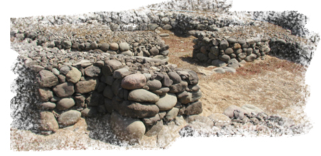
[(138, 143), (146, 131), (146, 127), (142, 121), (121, 116), (116, 111), (112, 112), (110, 124), (117, 138), (129, 142), (129, 144)]

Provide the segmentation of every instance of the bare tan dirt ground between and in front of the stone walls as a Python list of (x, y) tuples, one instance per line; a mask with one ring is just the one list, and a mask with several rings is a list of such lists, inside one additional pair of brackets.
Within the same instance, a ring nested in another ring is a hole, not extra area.
[[(309, 91), (305, 85), (306, 67), (303, 65), (267, 56), (264, 61), (242, 65), (234, 74), (211, 74), (211, 69), (215, 67), (205, 67), (192, 59), (194, 37), (177, 37), (170, 31), (165, 33), (170, 33), (170, 37), (163, 38), (166, 44), (170, 45), (169, 62), (177, 64), (178, 67), (193, 69), (198, 73), (200, 78), (198, 85), (201, 86), (203, 94), (200, 99), (203, 103), (202, 116), (209, 116), (215, 112), (222, 113), (232, 104), (235, 106), (252, 104), (269, 115), (291, 117), (297, 123), (305, 121), (303, 110)], [(17, 151), (122, 149), (116, 145), (94, 140), (89, 134), (84, 119), (50, 136), (10, 129), (10, 146), (12, 150)]]

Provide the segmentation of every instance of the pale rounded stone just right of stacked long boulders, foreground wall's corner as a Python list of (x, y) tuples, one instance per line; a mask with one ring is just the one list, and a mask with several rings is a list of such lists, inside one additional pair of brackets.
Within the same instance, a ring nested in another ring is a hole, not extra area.
[(159, 110), (170, 110), (177, 104), (177, 97), (174, 93), (166, 93), (155, 103)]

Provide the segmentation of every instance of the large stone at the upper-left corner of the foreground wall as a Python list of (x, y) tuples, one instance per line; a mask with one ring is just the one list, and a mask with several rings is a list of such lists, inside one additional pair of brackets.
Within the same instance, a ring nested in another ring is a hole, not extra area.
[(39, 72), (38, 83), (40, 87), (53, 87), (59, 83), (57, 76), (46, 69)]

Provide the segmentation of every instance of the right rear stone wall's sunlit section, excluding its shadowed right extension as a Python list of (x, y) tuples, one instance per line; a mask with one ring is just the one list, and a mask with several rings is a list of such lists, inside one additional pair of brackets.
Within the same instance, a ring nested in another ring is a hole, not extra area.
[(252, 62), (270, 52), (268, 37), (253, 39), (215, 38), (213, 33), (196, 31), (192, 57), (209, 65), (223, 67), (231, 59)]

